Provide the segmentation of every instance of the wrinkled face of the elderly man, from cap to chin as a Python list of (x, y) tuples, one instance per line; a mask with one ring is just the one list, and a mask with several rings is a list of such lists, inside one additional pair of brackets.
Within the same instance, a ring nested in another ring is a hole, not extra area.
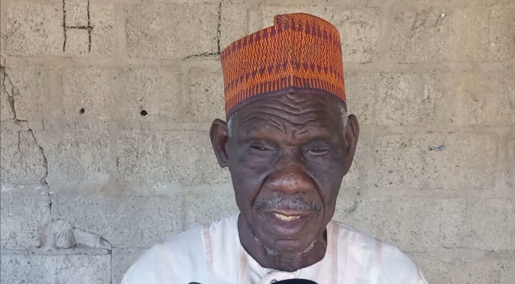
[(260, 99), (233, 116), (225, 155), (241, 217), (268, 249), (302, 252), (333, 216), (357, 135), (349, 145), (340, 111), (323, 95)]

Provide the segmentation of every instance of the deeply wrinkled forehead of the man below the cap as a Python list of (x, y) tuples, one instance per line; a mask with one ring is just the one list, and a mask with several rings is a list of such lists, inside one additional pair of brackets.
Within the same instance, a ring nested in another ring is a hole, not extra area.
[(288, 94), (252, 102), (235, 113), (240, 137), (283, 132), (291, 136), (334, 136), (342, 132), (338, 103), (316, 94)]

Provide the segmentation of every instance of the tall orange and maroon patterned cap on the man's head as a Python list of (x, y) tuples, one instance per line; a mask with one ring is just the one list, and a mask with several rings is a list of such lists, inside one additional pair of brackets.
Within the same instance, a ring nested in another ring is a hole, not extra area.
[(273, 26), (220, 54), (227, 119), (255, 99), (290, 93), (330, 95), (346, 107), (338, 30), (317, 16), (277, 15)]

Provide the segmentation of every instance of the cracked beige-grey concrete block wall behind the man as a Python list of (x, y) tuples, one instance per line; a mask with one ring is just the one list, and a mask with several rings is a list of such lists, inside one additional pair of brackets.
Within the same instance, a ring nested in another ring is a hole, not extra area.
[(219, 52), (301, 11), (339, 28), (362, 126), (335, 219), (430, 283), (513, 283), (512, 0), (0, 3), (2, 282), (118, 283), (237, 212), (208, 138)]

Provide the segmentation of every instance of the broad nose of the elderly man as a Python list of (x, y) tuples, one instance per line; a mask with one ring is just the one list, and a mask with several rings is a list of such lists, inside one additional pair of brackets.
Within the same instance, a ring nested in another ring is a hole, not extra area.
[(287, 195), (302, 194), (315, 188), (313, 179), (307, 174), (304, 163), (291, 158), (278, 164), (277, 170), (268, 178), (267, 185), (272, 191)]

